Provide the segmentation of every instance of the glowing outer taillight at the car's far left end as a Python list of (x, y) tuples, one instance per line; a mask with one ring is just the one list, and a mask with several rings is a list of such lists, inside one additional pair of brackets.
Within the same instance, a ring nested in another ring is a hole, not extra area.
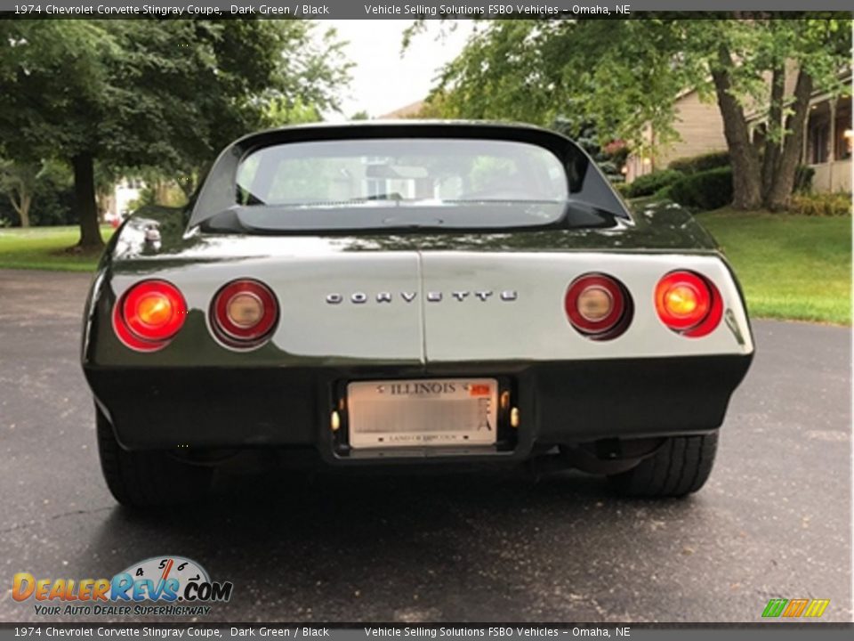
[(160, 349), (187, 319), (181, 291), (165, 280), (143, 280), (125, 292), (113, 309), (117, 337), (132, 349)]

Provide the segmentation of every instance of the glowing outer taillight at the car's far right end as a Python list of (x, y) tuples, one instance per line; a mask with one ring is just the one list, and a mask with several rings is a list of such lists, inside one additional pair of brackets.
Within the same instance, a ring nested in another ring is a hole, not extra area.
[(687, 337), (702, 337), (721, 322), (723, 302), (712, 282), (694, 272), (670, 272), (656, 287), (656, 311), (665, 325)]

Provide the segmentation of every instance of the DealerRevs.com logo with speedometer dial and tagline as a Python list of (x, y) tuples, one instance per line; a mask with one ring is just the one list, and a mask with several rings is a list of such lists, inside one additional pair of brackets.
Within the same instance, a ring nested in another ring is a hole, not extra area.
[(40, 615), (197, 616), (229, 601), (233, 588), (182, 556), (152, 556), (112, 579), (36, 579), (29, 572), (12, 578), (12, 598), (33, 599)]

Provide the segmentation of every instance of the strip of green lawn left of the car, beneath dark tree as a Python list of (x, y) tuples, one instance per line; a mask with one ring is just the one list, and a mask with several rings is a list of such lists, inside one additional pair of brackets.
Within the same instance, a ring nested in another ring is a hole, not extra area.
[[(112, 233), (111, 227), (101, 227), (105, 242)], [(79, 239), (76, 226), (0, 228), (0, 268), (91, 272), (100, 256), (68, 251)]]

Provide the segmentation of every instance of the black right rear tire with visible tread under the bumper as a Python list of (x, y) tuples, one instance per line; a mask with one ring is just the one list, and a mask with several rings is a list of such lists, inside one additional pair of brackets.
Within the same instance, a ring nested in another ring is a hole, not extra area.
[(703, 487), (712, 474), (718, 434), (673, 436), (637, 467), (609, 477), (626, 497), (682, 497)]

